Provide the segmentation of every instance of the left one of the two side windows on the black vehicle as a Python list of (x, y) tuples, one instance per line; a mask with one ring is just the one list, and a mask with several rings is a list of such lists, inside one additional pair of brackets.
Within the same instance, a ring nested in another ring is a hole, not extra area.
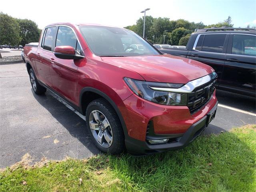
[(202, 51), (222, 53), (226, 34), (205, 34)]

